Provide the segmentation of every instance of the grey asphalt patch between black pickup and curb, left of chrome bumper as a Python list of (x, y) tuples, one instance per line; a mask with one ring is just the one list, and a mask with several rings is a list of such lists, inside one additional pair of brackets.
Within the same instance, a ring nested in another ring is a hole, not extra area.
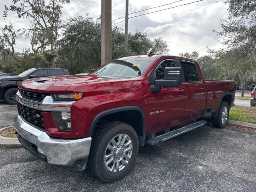
[(0, 128), (13, 125), (13, 118), (18, 115), (16, 105), (0, 101)]

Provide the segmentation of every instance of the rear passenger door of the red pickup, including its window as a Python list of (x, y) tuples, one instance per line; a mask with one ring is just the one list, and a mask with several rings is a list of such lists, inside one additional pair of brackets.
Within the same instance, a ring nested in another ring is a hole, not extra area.
[(197, 63), (180, 60), (180, 64), (183, 71), (182, 85), (185, 90), (184, 114), (187, 120), (197, 119), (206, 108), (206, 83), (200, 77)]

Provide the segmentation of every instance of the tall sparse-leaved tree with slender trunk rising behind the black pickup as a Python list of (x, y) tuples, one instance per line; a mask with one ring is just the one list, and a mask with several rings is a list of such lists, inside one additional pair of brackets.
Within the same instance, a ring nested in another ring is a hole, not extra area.
[[(69, 3), (70, 0), (12, 0), (10, 7), (6, 5), (3, 17), (6, 18), (8, 12), (16, 12), (19, 18), (31, 20), (30, 28), (23, 29), (22, 33), (30, 37), (32, 49), (38, 52), (44, 50), (45, 46), (50, 45), (52, 57), (52, 67), (56, 56), (56, 41), (60, 28), (61, 4)], [(40, 43), (40, 46), (38, 44)], [(34, 46), (38, 46), (34, 48)]]

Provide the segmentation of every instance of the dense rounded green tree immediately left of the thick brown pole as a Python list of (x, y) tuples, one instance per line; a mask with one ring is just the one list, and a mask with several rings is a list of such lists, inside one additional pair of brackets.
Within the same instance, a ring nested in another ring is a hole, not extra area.
[(100, 66), (100, 22), (75, 16), (63, 25), (57, 65), (71, 74), (89, 72)]

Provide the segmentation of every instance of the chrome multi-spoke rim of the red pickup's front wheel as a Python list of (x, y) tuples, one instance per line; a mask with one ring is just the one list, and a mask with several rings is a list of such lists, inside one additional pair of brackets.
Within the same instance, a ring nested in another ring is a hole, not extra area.
[(108, 143), (104, 163), (110, 172), (118, 172), (126, 167), (132, 156), (132, 140), (127, 134), (118, 134)]

